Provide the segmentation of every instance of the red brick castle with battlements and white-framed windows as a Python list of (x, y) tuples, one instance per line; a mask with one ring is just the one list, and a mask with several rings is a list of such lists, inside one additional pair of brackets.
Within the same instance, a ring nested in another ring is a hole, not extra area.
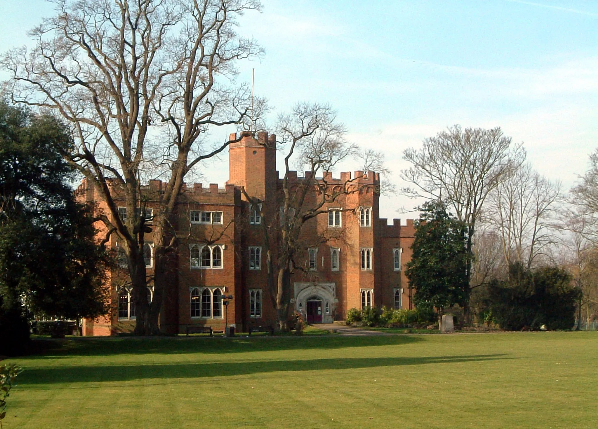
[[(257, 139), (251, 133), (241, 137), (230, 145), (230, 179), (224, 188), (210, 184), (205, 189), (201, 183), (195, 183), (184, 186), (179, 198), (173, 225), (184, 240), (178, 241), (176, 269), (170, 276), (160, 314), (164, 332), (184, 333), (193, 325), (224, 329), (222, 295), (233, 295), (226, 322), (235, 326), (237, 332), (274, 324), (276, 311), (266, 286), (263, 222), (270, 219), (269, 225), (273, 225), (271, 219), (279, 218), (282, 205), (275, 137), (261, 131)], [(231, 140), (236, 140), (236, 135), (231, 135)], [(351, 179), (359, 190), (341, 195), (327, 207), (338, 210), (318, 215), (303, 228), (304, 269), (292, 274), (291, 303), (309, 323), (344, 320), (347, 310), (353, 307), (412, 307), (404, 264), (411, 257), (413, 220), (401, 225), (400, 219), (393, 219), (393, 224), (388, 225), (387, 219), (380, 219), (378, 173), (355, 171), (352, 176), (343, 172), (340, 179), (328, 174), (318, 180), (342, 185)], [(291, 171), (289, 180), (301, 178)], [(162, 186), (160, 180), (151, 180), (145, 191), (155, 195)], [(249, 197), (262, 202), (264, 218), (259, 211), (251, 210), (242, 187)], [(85, 180), (78, 194), (101, 209), (99, 194)], [(147, 207), (151, 210), (151, 200)], [(126, 216), (123, 209), (119, 211)], [(151, 233), (146, 234), (145, 263), (149, 275), (154, 256), (151, 243)], [(106, 246), (118, 249), (116, 235)], [(271, 252), (276, 253), (276, 249)], [(130, 332), (135, 326), (126, 261), (118, 265), (109, 272), (106, 285), (112, 291), (114, 311), (96, 320), (85, 320), (84, 335), (114, 335)], [(149, 287), (148, 299), (152, 293)]]

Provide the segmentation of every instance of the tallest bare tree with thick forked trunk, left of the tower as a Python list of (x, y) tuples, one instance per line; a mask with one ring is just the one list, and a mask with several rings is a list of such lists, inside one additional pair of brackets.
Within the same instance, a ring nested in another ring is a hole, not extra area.
[[(99, 189), (108, 213), (99, 218), (126, 251), (139, 334), (158, 332), (167, 255), (175, 247), (169, 219), (185, 174), (230, 142), (206, 147), (212, 126), (238, 124), (248, 91), (234, 83), (235, 62), (259, 55), (235, 31), (236, 17), (258, 0), (56, 1), (57, 15), (31, 34), (32, 51), (9, 51), (5, 90), (13, 102), (52, 112), (71, 126), (63, 156)], [(202, 144), (203, 143), (203, 144)], [(148, 171), (148, 163), (158, 166)], [(155, 173), (154, 173), (155, 171)], [(154, 173), (154, 174), (152, 174)], [(155, 195), (145, 177), (166, 175)], [(118, 216), (116, 200), (127, 216)], [(154, 299), (148, 304), (144, 200), (157, 200), (152, 228)]]

